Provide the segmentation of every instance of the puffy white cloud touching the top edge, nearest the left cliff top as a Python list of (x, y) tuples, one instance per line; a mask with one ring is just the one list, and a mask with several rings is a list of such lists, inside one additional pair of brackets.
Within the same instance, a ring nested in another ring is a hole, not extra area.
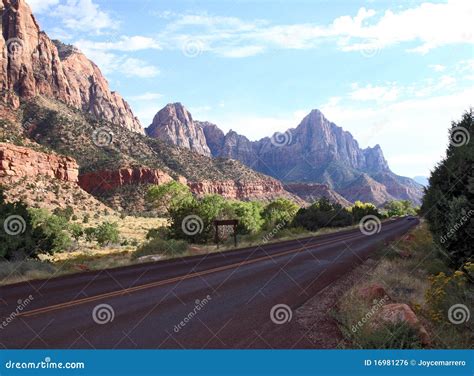
[(59, 18), (63, 27), (75, 32), (101, 34), (113, 31), (119, 25), (92, 0), (66, 0), (55, 4), (49, 14)]

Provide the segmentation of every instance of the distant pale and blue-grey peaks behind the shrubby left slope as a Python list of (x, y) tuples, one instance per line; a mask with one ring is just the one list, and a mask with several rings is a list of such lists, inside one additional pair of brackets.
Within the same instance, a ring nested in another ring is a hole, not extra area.
[[(422, 186), (394, 174), (379, 145), (361, 149), (347, 131), (311, 111), (296, 127), (258, 141), (217, 125), (193, 120), (181, 104), (168, 104), (146, 129), (151, 137), (203, 155), (241, 161), (284, 183), (307, 184), (308, 192), (323, 184), (346, 200), (378, 205), (394, 199), (420, 203)], [(317, 191), (319, 188), (317, 189)], [(335, 196), (332, 194), (332, 196)]]

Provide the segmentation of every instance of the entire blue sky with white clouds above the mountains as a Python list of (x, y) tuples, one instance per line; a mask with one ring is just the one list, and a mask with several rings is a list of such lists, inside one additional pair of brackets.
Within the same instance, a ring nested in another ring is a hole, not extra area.
[[(27, 0), (28, 1), (28, 0)], [(473, 105), (474, 2), (29, 0), (142, 125), (166, 103), (250, 139), (311, 109), (380, 144), (394, 172), (429, 174)]]

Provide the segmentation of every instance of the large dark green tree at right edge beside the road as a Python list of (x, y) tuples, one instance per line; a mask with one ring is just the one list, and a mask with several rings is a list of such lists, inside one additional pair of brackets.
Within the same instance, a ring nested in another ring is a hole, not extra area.
[(473, 110), (453, 122), (446, 157), (436, 166), (425, 189), (421, 213), (433, 238), (460, 267), (473, 256), (474, 117)]

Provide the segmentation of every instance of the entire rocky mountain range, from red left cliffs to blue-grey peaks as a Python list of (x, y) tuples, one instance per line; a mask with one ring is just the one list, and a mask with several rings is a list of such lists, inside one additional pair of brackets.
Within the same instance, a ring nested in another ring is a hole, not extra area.
[(64, 206), (69, 190), (79, 203), (140, 212), (147, 185), (178, 180), (231, 199), (419, 203), (420, 186), (393, 174), (380, 147), (360, 149), (317, 110), (259, 141), (195, 121), (177, 103), (144, 130), (99, 67), (51, 40), (25, 0), (2, 0), (0, 22), (0, 184), (11, 197)]

